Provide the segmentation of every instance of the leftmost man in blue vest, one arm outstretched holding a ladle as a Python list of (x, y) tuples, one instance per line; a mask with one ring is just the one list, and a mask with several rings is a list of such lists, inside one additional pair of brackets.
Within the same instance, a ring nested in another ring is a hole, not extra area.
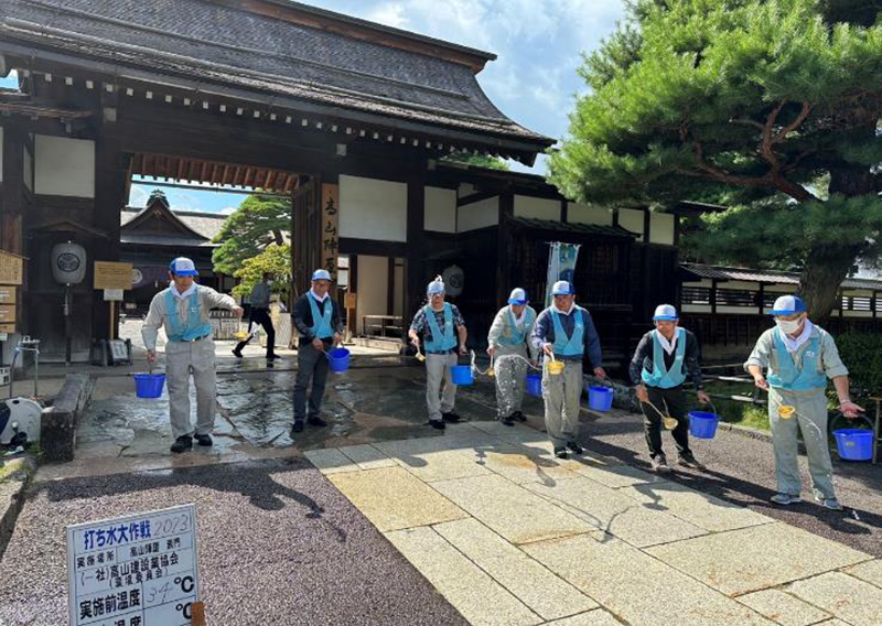
[[(172, 452), (180, 453), (193, 447), (195, 432), (200, 445), (212, 445), (217, 386), (215, 382), (215, 354), (212, 325), (208, 314), (212, 309), (227, 309), (237, 317), (243, 310), (229, 295), (196, 284), (198, 276), (192, 260), (179, 257), (169, 266), (171, 284), (153, 296), (150, 312), (141, 327), (147, 348), (147, 360), (157, 358), (157, 336), (164, 326), (165, 381), (169, 385), (169, 413), (172, 423)], [(196, 386), (196, 428), (190, 421), (190, 373)]]

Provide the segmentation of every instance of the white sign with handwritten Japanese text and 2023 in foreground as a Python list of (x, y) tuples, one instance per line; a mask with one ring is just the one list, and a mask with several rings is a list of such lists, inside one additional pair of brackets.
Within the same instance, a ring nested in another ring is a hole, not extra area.
[(185, 626), (200, 600), (196, 507), (67, 527), (71, 626)]

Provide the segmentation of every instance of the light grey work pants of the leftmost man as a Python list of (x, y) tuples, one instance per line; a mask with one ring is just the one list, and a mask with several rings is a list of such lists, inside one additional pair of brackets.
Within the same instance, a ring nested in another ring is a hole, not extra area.
[(172, 436), (193, 434), (190, 422), (190, 374), (196, 385), (196, 434), (211, 434), (214, 428), (217, 385), (214, 341), (169, 342), (165, 344), (165, 381), (169, 385), (169, 413)]

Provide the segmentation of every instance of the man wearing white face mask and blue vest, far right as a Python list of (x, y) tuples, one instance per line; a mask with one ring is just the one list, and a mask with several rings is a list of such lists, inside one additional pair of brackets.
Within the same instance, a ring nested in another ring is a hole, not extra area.
[[(782, 295), (770, 313), (775, 327), (760, 336), (744, 364), (754, 384), (768, 391), (768, 421), (775, 449), (775, 477), (778, 493), (772, 497), (777, 505), (802, 501), (803, 482), (797, 462), (797, 427), (808, 453), (815, 499), (832, 510), (842, 510), (833, 489), (833, 468), (827, 444), (827, 379), (833, 381), (839, 397), (839, 410), (854, 418), (861, 407), (849, 397), (848, 369), (839, 358), (832, 336), (809, 322), (803, 300)], [(768, 378), (763, 376), (768, 371)], [(795, 415), (785, 419), (778, 408), (796, 408)]]

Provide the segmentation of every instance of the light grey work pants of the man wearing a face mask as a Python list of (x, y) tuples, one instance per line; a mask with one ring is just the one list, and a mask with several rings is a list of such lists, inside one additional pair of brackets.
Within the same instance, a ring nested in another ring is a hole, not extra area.
[[(782, 419), (778, 415), (781, 404), (796, 407), (796, 412), (799, 414), (789, 420)], [(835, 498), (833, 466), (827, 444), (827, 397), (824, 389), (785, 391), (771, 388), (768, 422), (772, 424), (778, 493), (798, 496), (803, 490), (796, 439), (798, 428), (803, 431), (803, 441), (808, 454), (808, 473), (811, 475), (815, 492), (824, 498)]]

